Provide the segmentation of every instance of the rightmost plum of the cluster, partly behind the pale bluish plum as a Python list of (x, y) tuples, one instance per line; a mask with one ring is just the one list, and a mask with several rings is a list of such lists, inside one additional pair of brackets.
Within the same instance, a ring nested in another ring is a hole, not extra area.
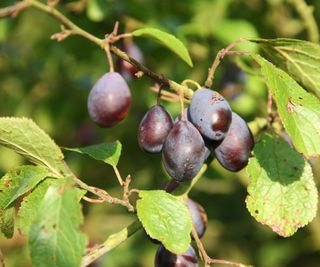
[(247, 123), (232, 112), (230, 129), (214, 154), (224, 168), (236, 172), (247, 165), (253, 145), (252, 133)]

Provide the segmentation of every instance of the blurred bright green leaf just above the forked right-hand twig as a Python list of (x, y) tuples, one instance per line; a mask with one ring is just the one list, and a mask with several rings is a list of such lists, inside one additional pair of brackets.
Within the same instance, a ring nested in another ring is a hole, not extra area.
[[(212, 34), (225, 45), (229, 45), (239, 38), (251, 39), (259, 37), (255, 26), (246, 20), (224, 19), (214, 27)], [(250, 42), (244, 42), (236, 46), (237, 51), (251, 53), (256, 52), (257, 48), (256, 44)]]

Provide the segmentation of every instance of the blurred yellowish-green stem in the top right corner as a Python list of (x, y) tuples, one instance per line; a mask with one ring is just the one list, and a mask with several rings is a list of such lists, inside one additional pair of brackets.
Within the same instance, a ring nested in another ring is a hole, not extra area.
[(311, 42), (318, 43), (319, 29), (313, 16), (313, 7), (308, 6), (304, 0), (289, 0), (289, 2), (295, 7), (301, 19), (303, 20), (308, 32), (308, 39)]

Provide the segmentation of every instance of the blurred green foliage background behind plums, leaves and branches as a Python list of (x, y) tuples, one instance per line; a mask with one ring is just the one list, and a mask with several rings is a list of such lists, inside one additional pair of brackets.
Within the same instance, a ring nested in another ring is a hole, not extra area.
[[(0, 7), (12, 3), (1, 0)], [(314, 16), (320, 23), (320, 1), (308, 4), (314, 5)], [(111, 32), (117, 20), (122, 32), (152, 26), (176, 35), (188, 47), (194, 68), (156, 42), (143, 38), (134, 42), (149, 68), (177, 82), (193, 79), (203, 84), (218, 50), (239, 37), (307, 39), (299, 14), (290, 1), (284, 0), (88, 0), (60, 1), (58, 8), (99, 37)], [(136, 140), (142, 116), (156, 103), (156, 95), (149, 90), (154, 82), (147, 77), (131, 80), (133, 106), (128, 118), (112, 129), (98, 128), (88, 117), (86, 99), (95, 81), (108, 70), (106, 56), (81, 37), (71, 37), (62, 43), (51, 41), (50, 36), (59, 31), (59, 25), (46, 14), (31, 9), (14, 19), (0, 20), (0, 115), (32, 118), (60, 146), (85, 146), (118, 139), (123, 144), (121, 174), (132, 174), (133, 187), (159, 188), (167, 181), (161, 155), (142, 152)], [(243, 44), (238, 49), (258, 48)], [(224, 94), (232, 108), (247, 121), (265, 116), (263, 83), (259, 77), (239, 71), (235, 61), (250, 69), (249, 61), (239, 63), (239, 59), (228, 57), (218, 69), (214, 89)], [(162, 104), (173, 117), (177, 116), (177, 103)], [(65, 156), (81, 179), (120, 196), (111, 167), (69, 152)], [(22, 163), (20, 156), (0, 147), (1, 175)], [(314, 170), (318, 183), (319, 162), (314, 162)], [(203, 237), (209, 254), (259, 267), (319, 267), (320, 217), (293, 237), (278, 237), (246, 210), (247, 183), (245, 171), (230, 173), (213, 161), (191, 192), (191, 197), (204, 206), (209, 216)], [(83, 231), (91, 245), (104, 241), (133, 220), (124, 208), (113, 205), (83, 203), (83, 210)], [(26, 240), (17, 230), (10, 240), (0, 236), (0, 248), (7, 266), (31, 266)], [(140, 231), (94, 266), (150, 267), (156, 249), (157, 245)]]

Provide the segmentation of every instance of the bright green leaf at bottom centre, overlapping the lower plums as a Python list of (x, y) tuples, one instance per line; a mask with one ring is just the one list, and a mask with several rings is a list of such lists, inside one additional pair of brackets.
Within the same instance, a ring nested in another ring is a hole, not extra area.
[(185, 204), (163, 191), (140, 191), (138, 218), (147, 234), (158, 239), (171, 252), (182, 254), (190, 245), (192, 221)]

